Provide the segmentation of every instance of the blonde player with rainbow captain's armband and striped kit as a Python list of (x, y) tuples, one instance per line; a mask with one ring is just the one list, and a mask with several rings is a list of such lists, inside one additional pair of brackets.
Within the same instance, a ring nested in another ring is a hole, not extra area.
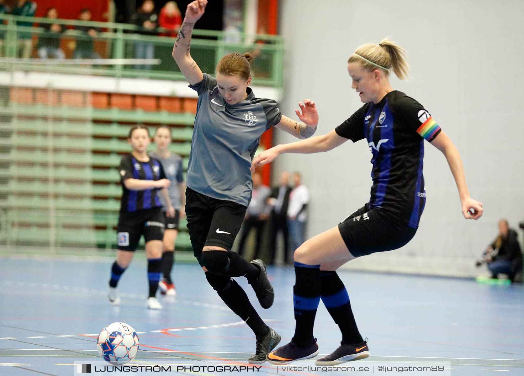
[(329, 366), (369, 355), (367, 341), (358, 332), (348, 294), (335, 270), (356, 257), (400, 248), (415, 235), (426, 197), (424, 139), (446, 157), (464, 217), (478, 219), (483, 212), (482, 204), (470, 197), (459, 151), (449, 137), (420, 103), (389, 84), (390, 69), (399, 79), (408, 75), (405, 50), (389, 39), (378, 45), (368, 43), (352, 54), (347, 69), (352, 88), (365, 105), (329, 134), (278, 145), (260, 153), (252, 164), (254, 170), (280, 153), (328, 151), (348, 139), (356, 142), (366, 138), (373, 156), (369, 203), (338, 226), (305, 241), (294, 253), (296, 329), (289, 344), (268, 354), (274, 364), (312, 358), (318, 353), (313, 324), (321, 298), (342, 331), (342, 342), (316, 364)]

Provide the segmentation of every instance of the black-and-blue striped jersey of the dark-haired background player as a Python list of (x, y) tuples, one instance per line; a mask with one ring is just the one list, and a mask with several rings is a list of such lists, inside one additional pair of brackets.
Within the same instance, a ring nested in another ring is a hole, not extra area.
[(153, 188), (144, 191), (131, 191), (124, 185), (126, 179), (140, 180), (160, 180), (166, 179), (166, 174), (162, 169), (162, 164), (154, 159), (149, 158), (148, 162), (140, 162), (133, 154), (127, 154), (122, 157), (120, 162), (120, 179), (122, 182), (122, 200), (120, 205), (121, 213), (136, 212), (141, 209), (151, 209), (162, 207), (157, 192), (159, 188)]

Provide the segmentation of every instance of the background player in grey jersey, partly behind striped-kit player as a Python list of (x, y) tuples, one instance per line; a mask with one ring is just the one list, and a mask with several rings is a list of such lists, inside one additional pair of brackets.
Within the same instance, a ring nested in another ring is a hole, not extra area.
[(151, 153), (151, 157), (162, 163), (162, 168), (171, 185), (167, 187), (171, 204), (174, 207), (174, 216), (167, 216), (167, 203), (160, 196), (162, 203), (166, 228), (163, 236), (162, 274), (163, 279), (159, 283), (160, 293), (163, 295), (176, 295), (174, 283), (171, 280), (171, 269), (174, 264), (174, 244), (178, 235), (178, 223), (185, 217), (185, 184), (183, 178), (182, 157), (171, 153), (168, 148), (171, 143), (171, 128), (168, 126), (158, 127), (154, 137), (157, 150)]

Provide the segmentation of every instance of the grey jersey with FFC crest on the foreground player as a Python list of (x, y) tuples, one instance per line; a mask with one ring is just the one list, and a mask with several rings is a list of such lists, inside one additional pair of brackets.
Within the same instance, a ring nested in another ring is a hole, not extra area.
[(282, 117), (273, 99), (256, 98), (250, 87), (244, 101), (231, 105), (216, 80), (189, 85), (198, 92), (186, 184), (193, 191), (247, 206), (251, 200), (251, 161), (260, 136)]

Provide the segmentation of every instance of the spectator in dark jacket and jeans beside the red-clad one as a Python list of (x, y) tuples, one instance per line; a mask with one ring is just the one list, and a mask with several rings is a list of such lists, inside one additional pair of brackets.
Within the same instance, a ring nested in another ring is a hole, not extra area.
[[(158, 16), (155, 12), (155, 3), (152, 0), (144, 0), (142, 6), (137, 9), (134, 16), (135, 25), (140, 26), (138, 34), (142, 35), (156, 35), (156, 28), (158, 26)], [(153, 43), (143, 40), (135, 42), (135, 58), (136, 59), (152, 59), (155, 54), (155, 46)], [(136, 69), (151, 69), (151, 64), (137, 64)]]

